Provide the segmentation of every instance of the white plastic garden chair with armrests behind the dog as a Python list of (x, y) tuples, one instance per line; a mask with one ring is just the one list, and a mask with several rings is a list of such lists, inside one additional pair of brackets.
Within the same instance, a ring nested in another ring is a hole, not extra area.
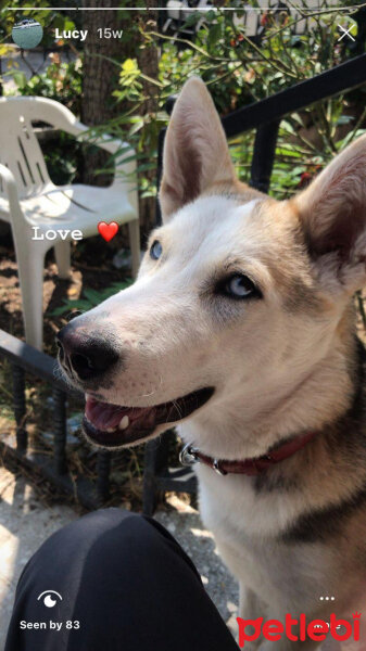
[[(54, 246), (60, 278), (70, 272), (70, 234), (64, 241), (33, 240), (34, 230), (80, 230), (84, 238), (98, 233), (99, 221), (128, 222), (132, 275), (140, 263), (138, 196), (135, 161), (116, 164), (109, 188), (75, 183), (54, 186), (49, 178), (33, 123), (43, 122), (56, 129), (79, 136), (88, 127), (68, 108), (45, 98), (0, 99), (0, 219), (10, 221), (23, 299), (25, 336), (28, 344), (42, 348), (43, 265), (46, 252)], [(90, 139), (86, 138), (88, 142)], [(93, 141), (114, 154), (122, 145), (103, 136)], [(130, 158), (132, 150), (127, 156)], [(124, 157), (124, 156), (123, 156)], [(101, 246), (106, 245), (101, 239)]]

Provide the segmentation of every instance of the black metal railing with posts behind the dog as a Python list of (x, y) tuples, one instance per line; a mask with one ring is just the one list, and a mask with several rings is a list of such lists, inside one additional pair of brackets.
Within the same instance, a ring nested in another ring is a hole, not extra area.
[[(251, 184), (266, 192), (269, 188), (274, 165), (278, 129), (281, 119), (310, 106), (311, 104), (346, 92), (366, 82), (366, 54), (352, 59), (317, 77), (302, 81), (287, 90), (278, 92), (261, 102), (239, 108), (223, 118), (228, 137), (256, 129), (254, 151), (251, 164)], [(174, 100), (169, 102), (172, 111)], [(162, 174), (162, 153), (166, 129), (159, 138), (157, 184)], [(157, 222), (161, 220), (159, 205)], [(54, 375), (55, 360), (36, 350), (24, 342), (0, 331), (0, 356), (7, 357), (13, 366), (13, 397), (16, 420), (16, 445), (11, 437), (1, 433), (0, 452), (2, 458), (16, 460), (43, 476), (63, 490), (76, 494), (78, 500), (88, 508), (96, 508), (109, 495), (109, 476), (111, 452), (98, 452), (97, 484), (85, 477), (72, 477), (67, 470), (66, 437), (66, 398), (70, 387)], [(53, 455), (52, 458), (29, 455), (27, 452), (27, 431), (25, 423), (25, 372), (42, 379), (52, 386), (53, 392)], [(81, 396), (80, 396), (81, 399)], [(166, 433), (162, 438), (152, 441), (146, 446), (143, 476), (143, 511), (153, 513), (159, 493), (176, 490), (195, 492), (195, 478), (191, 469), (168, 468), (168, 445), (173, 434)]]

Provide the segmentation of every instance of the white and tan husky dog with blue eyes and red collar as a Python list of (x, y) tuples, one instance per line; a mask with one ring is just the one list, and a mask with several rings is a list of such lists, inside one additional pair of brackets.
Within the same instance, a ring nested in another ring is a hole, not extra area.
[[(60, 362), (87, 396), (86, 437), (111, 449), (178, 425), (243, 618), (366, 617), (353, 308), (366, 283), (366, 136), (279, 202), (238, 181), (191, 78), (166, 133), (160, 202), (135, 284), (59, 334)], [(319, 642), (261, 649), (299, 643)]]

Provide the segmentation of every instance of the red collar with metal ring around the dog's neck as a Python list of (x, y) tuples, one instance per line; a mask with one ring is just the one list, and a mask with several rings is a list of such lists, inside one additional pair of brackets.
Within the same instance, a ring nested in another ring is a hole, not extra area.
[(254, 457), (253, 459), (243, 459), (242, 461), (219, 461), (218, 459), (203, 455), (198, 448), (187, 444), (179, 455), (179, 461), (182, 465), (192, 465), (198, 462), (204, 463), (222, 475), (228, 473), (257, 475), (275, 463), (279, 463), (279, 461), (292, 457), (292, 455), (298, 452), (298, 450), (301, 450), (301, 448), (312, 441), (314, 436), (315, 432), (308, 432), (302, 436), (291, 438), (291, 441), (270, 450), (267, 455)]

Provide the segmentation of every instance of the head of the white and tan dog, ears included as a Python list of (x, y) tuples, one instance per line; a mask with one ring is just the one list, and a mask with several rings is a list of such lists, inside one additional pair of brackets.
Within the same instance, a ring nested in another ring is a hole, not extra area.
[[(329, 419), (314, 392), (327, 394), (352, 345), (365, 169), (363, 137), (293, 200), (269, 199), (236, 179), (211, 97), (187, 81), (165, 141), (163, 226), (137, 281), (59, 334), (61, 366), (87, 394), (86, 435), (121, 447), (190, 419), (192, 443), (229, 459), (266, 449), (270, 414), (277, 437)], [(343, 379), (332, 417), (350, 392)]]

